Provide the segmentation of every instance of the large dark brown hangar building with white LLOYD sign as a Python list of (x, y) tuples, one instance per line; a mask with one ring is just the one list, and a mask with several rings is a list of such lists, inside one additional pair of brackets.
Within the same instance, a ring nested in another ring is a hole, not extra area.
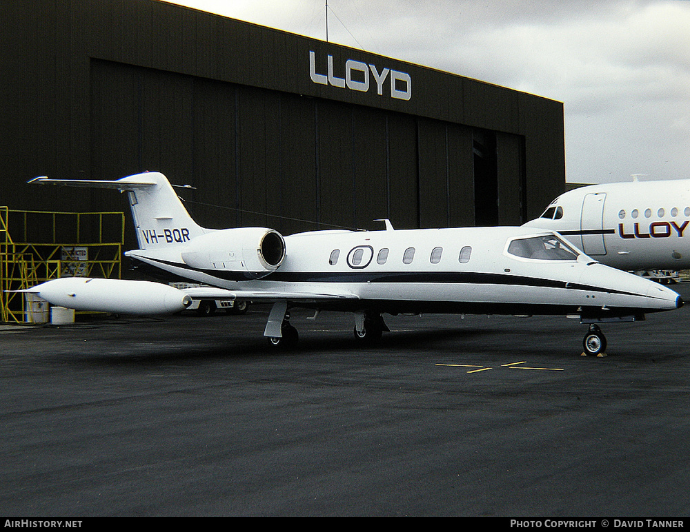
[(515, 225), (564, 190), (560, 102), (162, 1), (3, 0), (0, 17), (13, 209), (127, 210), (26, 181), (155, 170), (196, 187), (201, 225), (290, 234)]

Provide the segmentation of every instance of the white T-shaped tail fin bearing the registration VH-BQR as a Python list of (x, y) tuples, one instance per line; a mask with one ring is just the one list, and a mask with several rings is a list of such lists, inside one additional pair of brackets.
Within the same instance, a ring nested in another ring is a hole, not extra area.
[(117, 181), (37, 177), (30, 183), (127, 192), (139, 249), (177, 246), (210, 232), (193, 221), (168, 178), (159, 172), (135, 174)]

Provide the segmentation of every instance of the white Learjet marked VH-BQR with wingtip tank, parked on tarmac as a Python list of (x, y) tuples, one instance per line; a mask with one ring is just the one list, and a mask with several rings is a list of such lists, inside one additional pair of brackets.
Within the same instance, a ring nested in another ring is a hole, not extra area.
[(118, 181), (30, 183), (128, 192), (139, 249), (126, 256), (208, 285), (181, 291), (139, 280), (59, 278), (29, 289), (59, 305), (115, 313), (172, 313), (190, 297), (273, 303), (264, 336), (292, 345), (289, 309), (351, 311), (355, 336), (387, 330), (383, 313), (569, 315), (590, 324), (586, 354), (604, 353), (598, 323), (676, 309), (676, 292), (595, 262), (554, 232), (529, 227), (315, 231), (204, 229), (157, 172)]

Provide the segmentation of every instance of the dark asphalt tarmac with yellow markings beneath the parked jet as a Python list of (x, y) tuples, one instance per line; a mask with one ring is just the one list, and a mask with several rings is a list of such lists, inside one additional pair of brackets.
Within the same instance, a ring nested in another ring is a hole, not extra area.
[[(690, 302), (690, 285), (676, 285)], [(0, 325), (0, 509), (17, 517), (683, 517), (690, 305), (560, 317), (293, 312)]]

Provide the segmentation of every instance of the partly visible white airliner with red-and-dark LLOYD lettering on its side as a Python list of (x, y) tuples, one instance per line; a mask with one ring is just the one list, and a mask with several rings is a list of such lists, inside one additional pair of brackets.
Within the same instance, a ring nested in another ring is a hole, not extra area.
[(524, 227), (556, 231), (626, 271), (690, 268), (690, 180), (589, 185), (565, 192)]

